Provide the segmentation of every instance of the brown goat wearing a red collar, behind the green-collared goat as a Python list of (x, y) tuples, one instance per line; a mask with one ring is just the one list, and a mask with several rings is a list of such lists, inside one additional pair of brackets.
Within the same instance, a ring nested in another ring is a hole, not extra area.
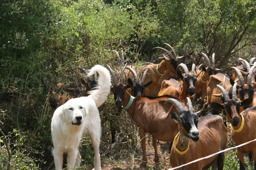
[[(185, 76), (181, 74), (179, 68), (182, 68), (184, 70)], [(195, 64), (193, 64), (192, 66), (192, 73), (190, 75), (187, 66), (181, 63), (177, 68), (177, 74), (181, 78), (183, 86), (180, 83), (176, 82), (174, 79), (164, 80), (162, 82), (158, 96), (172, 95), (181, 98), (182, 100), (185, 100), (186, 97), (194, 95), (196, 82), (194, 72)]]

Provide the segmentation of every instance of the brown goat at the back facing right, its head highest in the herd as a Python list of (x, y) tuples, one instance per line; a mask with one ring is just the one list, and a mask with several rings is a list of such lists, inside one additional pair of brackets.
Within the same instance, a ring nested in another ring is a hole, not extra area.
[(161, 48), (161, 47), (155, 47), (153, 49), (161, 49), (164, 51), (167, 55), (167, 57), (163, 57), (163, 60), (158, 64), (149, 63), (147, 66), (143, 67), (139, 71), (139, 77), (141, 77), (146, 69), (148, 69), (148, 74), (145, 77), (145, 83), (148, 83), (149, 81), (153, 81), (150, 86), (145, 88), (145, 95), (150, 95), (150, 92), (154, 89), (156, 89), (158, 86), (161, 85), (161, 82), (159, 82), (160, 77), (164, 74), (165, 71), (167, 75), (176, 77), (176, 69), (178, 66), (178, 59), (182, 57), (177, 57), (173, 48), (169, 45), (164, 43), (164, 45), (167, 45), (171, 48), (171, 51), (169, 52), (167, 49)]

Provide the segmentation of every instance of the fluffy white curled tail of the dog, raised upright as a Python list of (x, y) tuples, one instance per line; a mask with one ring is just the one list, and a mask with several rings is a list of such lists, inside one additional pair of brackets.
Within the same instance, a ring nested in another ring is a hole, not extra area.
[(99, 107), (108, 97), (111, 77), (108, 69), (100, 65), (95, 65), (92, 69), (88, 70), (87, 76), (93, 75), (96, 71), (99, 73), (98, 85), (95, 89), (88, 92), (90, 94), (88, 97), (92, 98), (96, 106)]

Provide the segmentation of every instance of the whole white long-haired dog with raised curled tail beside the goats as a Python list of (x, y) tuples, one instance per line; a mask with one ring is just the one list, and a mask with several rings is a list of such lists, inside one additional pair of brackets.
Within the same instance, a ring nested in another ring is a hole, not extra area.
[(75, 98), (61, 105), (53, 114), (51, 135), (56, 170), (62, 169), (63, 154), (67, 153), (68, 170), (80, 166), (78, 151), (83, 132), (86, 130), (92, 140), (95, 156), (95, 170), (100, 170), (99, 144), (101, 136), (100, 116), (97, 107), (105, 102), (110, 91), (109, 71), (100, 65), (89, 70), (87, 76), (99, 73), (98, 87), (89, 96)]

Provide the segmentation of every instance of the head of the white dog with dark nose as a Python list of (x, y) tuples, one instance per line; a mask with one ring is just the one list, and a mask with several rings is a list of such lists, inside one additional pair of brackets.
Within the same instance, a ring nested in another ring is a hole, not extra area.
[(85, 103), (81, 98), (70, 99), (59, 110), (59, 117), (63, 122), (74, 126), (80, 126), (87, 115)]

